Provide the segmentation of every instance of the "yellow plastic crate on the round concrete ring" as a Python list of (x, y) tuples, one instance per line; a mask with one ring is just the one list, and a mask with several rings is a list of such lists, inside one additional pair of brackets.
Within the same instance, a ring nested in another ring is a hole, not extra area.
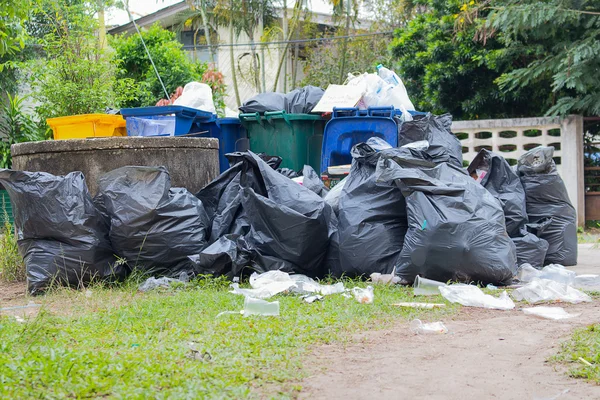
[(83, 114), (46, 120), (55, 140), (91, 137), (127, 136), (125, 120), (120, 115)]

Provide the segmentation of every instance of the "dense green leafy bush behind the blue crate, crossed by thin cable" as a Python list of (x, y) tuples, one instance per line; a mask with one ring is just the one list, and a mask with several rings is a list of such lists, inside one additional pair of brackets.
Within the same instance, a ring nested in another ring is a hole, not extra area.
[[(174, 32), (156, 23), (141, 34), (169, 93), (189, 82), (202, 80), (207, 65), (190, 61)], [(138, 89), (139, 95), (127, 102), (128, 107), (154, 105), (165, 97), (139, 35), (114, 36), (110, 45), (116, 52), (117, 76), (131, 79)]]

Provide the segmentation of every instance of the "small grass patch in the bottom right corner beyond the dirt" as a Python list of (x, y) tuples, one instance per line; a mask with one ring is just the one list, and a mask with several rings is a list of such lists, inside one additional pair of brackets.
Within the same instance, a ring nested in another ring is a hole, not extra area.
[(568, 364), (570, 376), (600, 384), (600, 324), (577, 329), (554, 361)]

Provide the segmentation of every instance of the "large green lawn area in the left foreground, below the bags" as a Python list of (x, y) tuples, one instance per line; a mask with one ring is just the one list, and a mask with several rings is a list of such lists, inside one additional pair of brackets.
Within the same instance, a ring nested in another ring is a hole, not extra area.
[(293, 397), (305, 376), (302, 359), (315, 346), (458, 308), (401, 309), (392, 304), (415, 301), (412, 288), (376, 286), (373, 304), (340, 294), (313, 304), (279, 295), (271, 299), (281, 304), (279, 317), (217, 317), (243, 308), (227, 286), (203, 278), (148, 293), (129, 283), (34, 298), (44, 304), (36, 317), (0, 317), (0, 398)]

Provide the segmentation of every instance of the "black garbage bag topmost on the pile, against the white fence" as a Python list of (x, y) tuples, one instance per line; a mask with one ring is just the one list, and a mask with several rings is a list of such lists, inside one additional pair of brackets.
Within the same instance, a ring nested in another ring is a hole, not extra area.
[(451, 163), (463, 166), (462, 145), (450, 130), (452, 115), (415, 115), (412, 121), (398, 123), (398, 146), (425, 140), (426, 150), (436, 164)]

